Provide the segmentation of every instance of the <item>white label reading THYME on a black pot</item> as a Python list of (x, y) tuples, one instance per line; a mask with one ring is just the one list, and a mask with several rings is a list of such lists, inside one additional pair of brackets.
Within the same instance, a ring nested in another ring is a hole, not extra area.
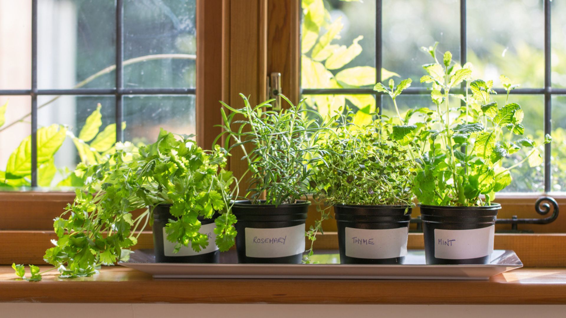
[(359, 259), (391, 259), (407, 255), (409, 227), (367, 230), (346, 227), (346, 256)]

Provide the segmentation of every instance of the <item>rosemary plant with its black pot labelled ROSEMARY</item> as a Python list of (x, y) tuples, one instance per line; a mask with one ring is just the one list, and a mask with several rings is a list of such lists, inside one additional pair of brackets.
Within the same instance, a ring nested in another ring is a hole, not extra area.
[(241, 149), (248, 167), (246, 199), (232, 207), (238, 218), (238, 261), (301, 263), (320, 116), (285, 96), (289, 108), (281, 111), (269, 109), (273, 100), (251, 106), (240, 96), (245, 103), (241, 109), (221, 102), (230, 114), (221, 110), (224, 131), (216, 139), (224, 136), (229, 151)]

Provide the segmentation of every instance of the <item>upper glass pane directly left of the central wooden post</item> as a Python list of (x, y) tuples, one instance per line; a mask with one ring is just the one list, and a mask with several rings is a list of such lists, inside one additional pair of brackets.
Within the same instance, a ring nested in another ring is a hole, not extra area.
[(124, 2), (125, 87), (195, 87), (195, 10), (195, 0)]

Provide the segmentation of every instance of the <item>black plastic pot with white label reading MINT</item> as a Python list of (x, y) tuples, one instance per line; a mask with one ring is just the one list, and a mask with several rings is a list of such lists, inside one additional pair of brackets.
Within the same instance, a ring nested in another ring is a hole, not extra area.
[[(494, 228), (487, 228), (495, 226), (500, 204), (494, 203), (486, 207), (419, 206), (427, 264), (488, 264), (490, 262), (489, 252), (493, 250)], [(477, 231), (478, 229), (484, 230)], [(476, 231), (466, 232), (466, 230)], [(483, 255), (485, 253), (488, 255)], [(473, 254), (476, 255), (470, 257)]]

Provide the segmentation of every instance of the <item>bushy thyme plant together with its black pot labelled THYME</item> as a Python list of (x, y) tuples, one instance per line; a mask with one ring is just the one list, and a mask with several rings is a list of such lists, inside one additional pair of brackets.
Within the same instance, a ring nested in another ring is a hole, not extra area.
[(407, 254), (410, 157), (385, 119), (358, 126), (350, 111), (337, 114), (320, 146), (312, 180), (318, 199), (334, 207), (342, 264), (402, 264)]

